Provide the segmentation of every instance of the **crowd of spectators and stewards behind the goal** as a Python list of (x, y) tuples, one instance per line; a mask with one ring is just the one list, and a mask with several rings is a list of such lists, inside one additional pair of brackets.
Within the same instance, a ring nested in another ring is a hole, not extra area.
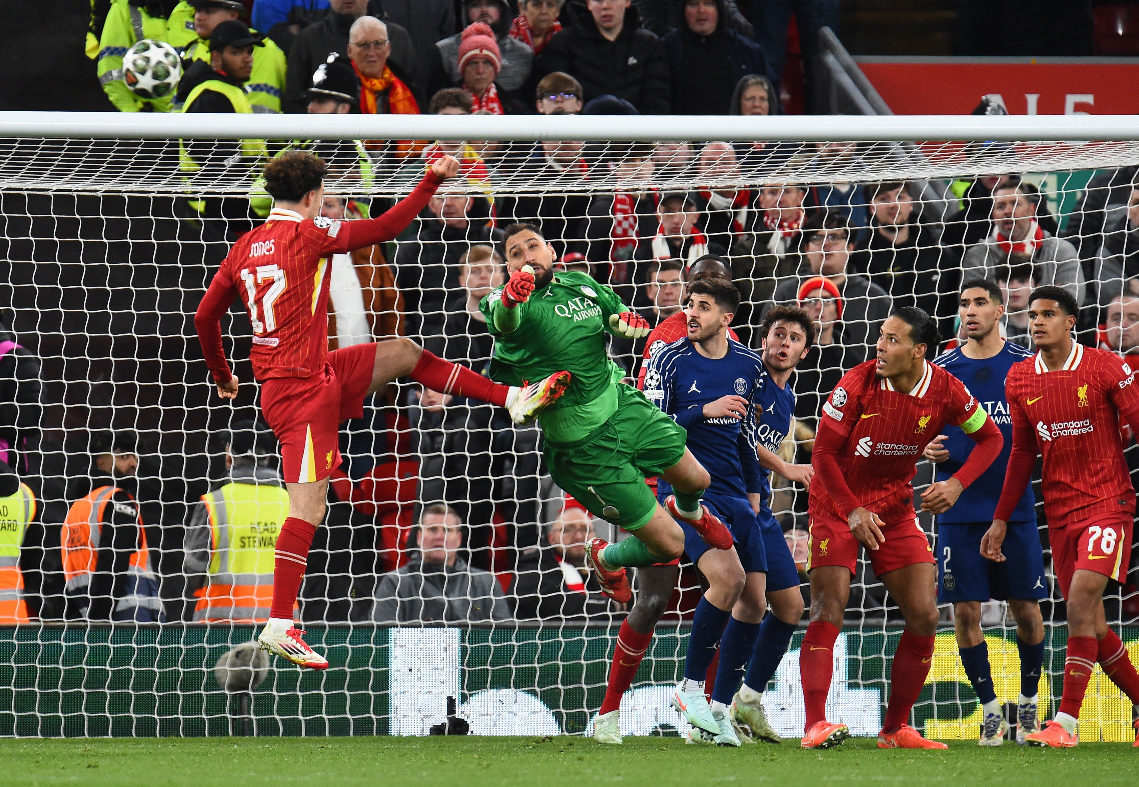
[[(124, 112), (767, 115), (781, 110), (776, 85), (787, 18), (772, 10), (778, 6), (257, 0), (252, 30), (240, 21), (238, 0), (115, 0), (98, 68)], [(822, 13), (812, 19), (836, 24)], [(140, 33), (170, 42), (185, 58), (173, 104), (139, 99), (121, 79), (122, 57)], [(809, 32), (803, 40), (812, 40)], [(857, 144), (811, 150), (716, 141), (604, 149), (558, 141), (296, 145), (361, 183), (360, 194), (326, 196), (328, 219), (369, 214), (364, 192), (377, 163), (421, 172), (425, 163), (454, 155), (466, 183), (433, 197), (399, 243), (333, 256), (330, 347), (409, 336), (483, 371), (493, 339), (478, 303), (503, 281), (499, 228), (528, 221), (552, 243), (563, 268), (613, 286), (650, 327), (682, 310), (693, 264), (707, 254), (720, 255), (722, 276), (740, 289), (732, 327), (743, 342), (759, 344), (755, 329), (773, 305), (805, 309), (817, 339), (794, 377), (795, 426), (781, 449), (788, 460), (809, 460), (822, 397), (868, 359), (893, 308), (925, 309), (937, 318), (942, 349), (956, 346), (958, 290), (972, 278), (1001, 288), (1002, 329), (1013, 342), (1031, 347), (1027, 295), (1055, 284), (1081, 305), (1083, 343), (1139, 354), (1137, 167), (1097, 175), (1067, 215), (1056, 215), (1035, 179), (1017, 175), (948, 185), (699, 186), (757, 159), (800, 156), (822, 167), (868, 155)], [(208, 174), (252, 170), (267, 155), (239, 141), (189, 142), (185, 159)], [(695, 186), (598, 194), (588, 186), (592, 171), (618, 182), (663, 178)], [(540, 180), (546, 194), (495, 192), (500, 179), (519, 172)], [(237, 233), (268, 214), (268, 202), (252, 195), (202, 210)], [(611, 352), (636, 382), (645, 341), (615, 338)], [(93, 434), (84, 466), (72, 458), (55, 474), (66, 489), (22, 486), (48, 475), (31, 459), (44, 394), (36, 359), (7, 333), (0, 334), (0, 491), (66, 500), (65, 511), (25, 505), (19, 526), (5, 531), (0, 622), (268, 616), (264, 577), (271, 581), (287, 493), (267, 427), (232, 425), (219, 446), (226, 477), (188, 495), (185, 534), (174, 540), (181, 565), (159, 566), (147, 542), (154, 523), (142, 511), (147, 494), (167, 492), (137, 483), (138, 438)], [(608, 621), (623, 614), (585, 568), (584, 543), (595, 528), (609, 526), (551, 489), (539, 446), (536, 428), (514, 427), (491, 405), (409, 386), (375, 394), (342, 437), (345, 462), (334, 473), (327, 527), (309, 559), (301, 620)], [(792, 491), (777, 479), (772, 507), (802, 572), (805, 497)], [(238, 530), (252, 539), (241, 544), (243, 565), (233, 564), (228, 542)], [(690, 577), (687, 584), (697, 583)], [(880, 607), (883, 595), (855, 597), (852, 614)], [(690, 608), (690, 599), (673, 599), (673, 609)], [(1137, 616), (1139, 608), (1124, 614)]]

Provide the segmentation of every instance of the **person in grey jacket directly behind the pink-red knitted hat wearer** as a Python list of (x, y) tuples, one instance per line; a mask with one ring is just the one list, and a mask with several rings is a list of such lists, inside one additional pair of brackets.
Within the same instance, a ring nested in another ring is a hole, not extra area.
[[(464, 0), (464, 32), (475, 23), (487, 25), (499, 48), (498, 84), (507, 92), (519, 92), (527, 84), (534, 64), (534, 51), (522, 41), (510, 38), (510, 6), (507, 0)], [(427, 92), (435, 95), (443, 88), (462, 83), (459, 71), (459, 46), (462, 33), (437, 41), (431, 49), (431, 69)], [(530, 84), (533, 84), (530, 82)], [(525, 91), (528, 92), (528, 89)]]

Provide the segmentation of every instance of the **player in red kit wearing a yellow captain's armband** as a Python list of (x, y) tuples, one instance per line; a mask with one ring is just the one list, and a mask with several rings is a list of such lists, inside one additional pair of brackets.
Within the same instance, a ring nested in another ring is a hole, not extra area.
[(960, 426), (977, 442), (961, 469), (921, 493), (921, 510), (942, 514), (985, 472), (1005, 440), (965, 385), (926, 360), (936, 341), (928, 314), (895, 309), (882, 326), (877, 359), (846, 372), (822, 405), (809, 503), (811, 623), (798, 657), (806, 700), (803, 748), (827, 748), (849, 735), (845, 724), (826, 720), (826, 705), (859, 543), (906, 616), (878, 748), (945, 748), (906, 723), (929, 674), (937, 628), (935, 563), (913, 511), (911, 482), (929, 435), (943, 425)]

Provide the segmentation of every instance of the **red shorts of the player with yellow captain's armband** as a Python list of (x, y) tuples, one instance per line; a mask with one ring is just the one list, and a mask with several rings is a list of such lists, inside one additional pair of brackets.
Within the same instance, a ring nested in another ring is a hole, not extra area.
[[(806, 569), (819, 566), (846, 566), (851, 574), (858, 567), (859, 543), (845, 522), (827, 517), (812, 516), (810, 524), (811, 538), (808, 542), (811, 550)], [(912, 566), (917, 563), (936, 563), (933, 547), (921, 530), (917, 517), (887, 524), (882, 528), (886, 541), (877, 550), (868, 549), (870, 566), (875, 576), (882, 576), (892, 571)]]

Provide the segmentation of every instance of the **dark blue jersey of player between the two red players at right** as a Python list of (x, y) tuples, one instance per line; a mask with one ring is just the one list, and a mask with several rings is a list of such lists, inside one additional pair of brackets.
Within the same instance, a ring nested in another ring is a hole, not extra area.
[[(1008, 411), (1008, 400), (1005, 399), (1005, 378), (1014, 363), (1018, 363), (1026, 358), (1032, 358), (1034, 353), (1019, 345), (1006, 342), (1005, 347), (984, 360), (968, 358), (958, 347), (940, 355), (934, 363), (945, 371), (957, 377), (977, 402), (985, 409), (993, 424), (1005, 436), (1005, 448), (1000, 456), (993, 460), (989, 469), (981, 474), (969, 489), (961, 493), (957, 503), (937, 515), (937, 523), (942, 525), (962, 524), (969, 522), (990, 522), (993, 511), (997, 510), (997, 501), (1000, 499), (1001, 487), (1005, 485), (1005, 470), (1008, 468), (1008, 457), (1013, 450), (1013, 417)], [(956, 426), (945, 425), (945, 448), (949, 449), (949, 459), (936, 466), (937, 481), (945, 481), (957, 473), (968, 459), (969, 452), (976, 445)], [(1021, 501), (1016, 505), (1010, 522), (1027, 522), (1035, 518), (1033, 505), (1035, 500), (1032, 495), (1032, 484), (1024, 490)]]

